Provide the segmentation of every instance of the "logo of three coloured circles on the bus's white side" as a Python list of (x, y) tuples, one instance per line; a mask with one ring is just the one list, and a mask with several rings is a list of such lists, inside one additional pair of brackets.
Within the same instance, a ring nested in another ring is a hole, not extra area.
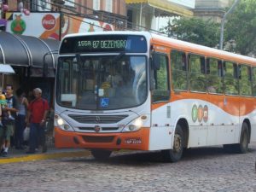
[(193, 122), (199, 121), (201, 122), (202, 120), (204, 122), (207, 122), (208, 120), (208, 107), (205, 105), (202, 107), (202, 105), (199, 105), (198, 107), (196, 105), (193, 105), (192, 111), (191, 111), (191, 116)]

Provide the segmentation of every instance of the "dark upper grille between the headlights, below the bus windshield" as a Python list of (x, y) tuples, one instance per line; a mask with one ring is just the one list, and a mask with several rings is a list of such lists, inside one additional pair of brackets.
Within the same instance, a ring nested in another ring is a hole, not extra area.
[(69, 114), (70, 118), (85, 124), (113, 124), (128, 117), (128, 115), (76, 115)]

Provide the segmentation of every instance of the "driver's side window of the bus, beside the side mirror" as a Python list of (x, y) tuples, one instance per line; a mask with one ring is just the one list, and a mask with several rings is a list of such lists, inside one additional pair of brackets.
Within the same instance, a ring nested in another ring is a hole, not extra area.
[(170, 98), (168, 57), (159, 53), (155, 54), (159, 58), (160, 68), (154, 70), (153, 102), (168, 101)]

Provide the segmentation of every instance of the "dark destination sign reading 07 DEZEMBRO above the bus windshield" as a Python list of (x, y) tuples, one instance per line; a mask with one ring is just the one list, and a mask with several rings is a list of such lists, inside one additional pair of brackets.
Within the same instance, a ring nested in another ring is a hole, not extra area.
[(138, 35), (95, 35), (65, 38), (61, 43), (61, 54), (91, 52), (145, 53), (147, 40)]

